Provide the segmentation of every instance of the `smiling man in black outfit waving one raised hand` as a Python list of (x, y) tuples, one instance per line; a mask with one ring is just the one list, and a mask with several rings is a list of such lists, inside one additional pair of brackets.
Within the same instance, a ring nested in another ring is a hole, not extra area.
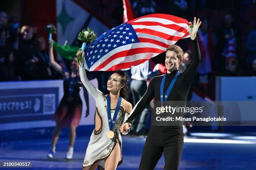
[[(196, 21), (196, 18), (194, 18), (193, 25), (190, 23), (189, 35), (192, 40), (193, 59), (189, 67), (177, 76), (177, 81), (174, 83), (166, 101), (187, 101), (189, 88), (195, 78), (200, 62), (200, 50), (196, 39), (200, 24), (200, 20)], [(165, 66), (167, 71), (164, 81), (164, 96), (170, 83), (178, 75), (177, 72), (183, 61), (183, 55), (182, 49), (177, 45), (171, 45), (166, 50)], [(163, 76), (156, 76), (151, 80), (146, 93), (135, 105), (127, 121), (120, 127), (121, 132), (129, 130), (132, 120), (142, 112), (153, 98), (155, 98), (155, 101), (160, 101), (163, 96), (160, 95), (162, 78)], [(139, 170), (153, 170), (163, 153), (165, 158), (164, 170), (177, 170), (182, 155), (183, 136), (182, 124), (178, 126), (151, 126), (141, 155)]]

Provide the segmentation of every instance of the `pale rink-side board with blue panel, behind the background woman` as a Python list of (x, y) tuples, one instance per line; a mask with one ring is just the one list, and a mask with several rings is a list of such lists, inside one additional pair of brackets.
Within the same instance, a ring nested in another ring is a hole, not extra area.
[[(97, 87), (97, 80), (92, 83)], [(0, 82), (0, 132), (55, 126), (51, 119), (63, 94), (63, 80)], [(81, 98), (82, 109), (87, 110)], [(94, 125), (95, 101), (91, 95), (89, 101), (90, 115), (82, 118), (80, 125)]]

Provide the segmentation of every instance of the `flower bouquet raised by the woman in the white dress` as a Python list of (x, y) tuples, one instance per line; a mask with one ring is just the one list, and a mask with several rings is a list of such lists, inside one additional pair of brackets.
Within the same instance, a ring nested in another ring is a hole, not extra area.
[(80, 55), (77, 56), (77, 62), (80, 62), (81, 57), (82, 57), (82, 52), (85, 48), (86, 44), (90, 44), (92, 41), (96, 40), (97, 35), (94, 33), (94, 31), (90, 28), (87, 28), (87, 31), (83, 29), (81, 32), (79, 32), (77, 39), (81, 40), (83, 42), (81, 50), (80, 50)]

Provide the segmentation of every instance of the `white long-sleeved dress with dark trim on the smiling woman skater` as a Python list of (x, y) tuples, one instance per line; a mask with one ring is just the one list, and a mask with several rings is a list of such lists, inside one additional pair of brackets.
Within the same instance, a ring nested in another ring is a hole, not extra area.
[[(79, 65), (79, 73), (81, 77), (81, 81), (86, 87), (87, 91), (92, 95), (95, 99), (96, 103), (96, 114), (100, 117), (100, 129), (93, 130), (90, 142), (87, 146), (84, 163), (82, 166), (82, 170), (90, 170), (90, 168), (94, 165), (94, 163), (99, 162), (98, 169), (104, 170), (105, 160), (108, 158), (113, 148), (115, 147), (117, 141), (120, 145), (121, 155), (119, 159), (118, 165), (120, 165), (123, 161), (122, 159), (122, 138), (120, 135), (119, 127), (127, 120), (129, 115), (128, 112), (125, 112), (124, 108), (120, 106), (118, 111), (118, 117), (115, 124), (115, 136), (113, 139), (109, 139), (107, 137), (107, 132), (110, 130), (108, 125), (108, 111), (107, 111), (107, 97), (95, 88), (92, 83), (88, 80), (86, 76), (85, 69), (83, 67), (84, 63), (80, 63)], [(82, 65), (82, 66), (81, 66)], [(111, 110), (111, 117), (113, 118), (115, 110)], [(126, 135), (127, 133), (123, 133)]]

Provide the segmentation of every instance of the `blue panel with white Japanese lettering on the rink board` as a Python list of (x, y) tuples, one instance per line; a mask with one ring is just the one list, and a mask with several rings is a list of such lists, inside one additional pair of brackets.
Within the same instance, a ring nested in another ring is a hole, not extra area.
[[(56, 87), (3, 89), (0, 90), (0, 95), (1, 123), (36, 120), (33, 117), (55, 112), (59, 102), (59, 88)], [(26, 116), (29, 116), (29, 119)]]

